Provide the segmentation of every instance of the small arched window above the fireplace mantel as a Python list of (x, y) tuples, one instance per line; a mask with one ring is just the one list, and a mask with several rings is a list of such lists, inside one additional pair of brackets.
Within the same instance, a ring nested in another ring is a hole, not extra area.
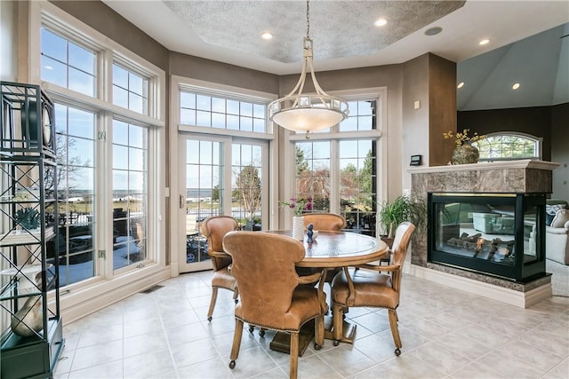
[(541, 159), (541, 140), (530, 134), (497, 132), (474, 142), (480, 152), (478, 161), (510, 161), (515, 159)]

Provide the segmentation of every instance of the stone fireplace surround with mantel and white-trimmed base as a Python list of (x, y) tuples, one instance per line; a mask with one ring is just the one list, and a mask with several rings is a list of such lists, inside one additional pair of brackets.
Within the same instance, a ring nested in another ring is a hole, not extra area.
[[(544, 161), (479, 162), (410, 169), (413, 196), (427, 201), (429, 192), (446, 193), (551, 193), (552, 170), (559, 164)], [(551, 296), (551, 277), (528, 283), (430, 263), (427, 227), (413, 236), (410, 273), (480, 296), (526, 308)]]

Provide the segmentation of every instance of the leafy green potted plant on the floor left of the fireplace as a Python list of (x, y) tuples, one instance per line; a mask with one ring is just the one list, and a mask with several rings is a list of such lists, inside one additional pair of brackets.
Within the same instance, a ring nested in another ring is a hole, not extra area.
[(426, 215), (427, 208), (424, 201), (413, 199), (410, 195), (401, 195), (394, 201), (384, 201), (381, 204), (379, 221), (387, 234), (382, 240), (388, 244), (389, 242), (393, 243), (397, 225), (409, 221), (415, 226), (419, 226), (425, 220)]

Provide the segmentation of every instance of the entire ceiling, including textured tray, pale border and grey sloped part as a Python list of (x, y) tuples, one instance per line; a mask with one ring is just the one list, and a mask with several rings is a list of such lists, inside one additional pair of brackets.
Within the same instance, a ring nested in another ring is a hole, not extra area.
[[(275, 75), (301, 71), (306, 2), (102, 0), (170, 51)], [(389, 24), (373, 27), (385, 17)], [(569, 1), (311, 0), (316, 71), (398, 64), (432, 52), (457, 62), (459, 110), (569, 102)], [(437, 36), (425, 36), (440, 27)], [(565, 31), (564, 31), (565, 30)], [(274, 38), (261, 40), (270, 31)], [(489, 38), (480, 46), (478, 41)], [(513, 83), (521, 83), (512, 91)]]

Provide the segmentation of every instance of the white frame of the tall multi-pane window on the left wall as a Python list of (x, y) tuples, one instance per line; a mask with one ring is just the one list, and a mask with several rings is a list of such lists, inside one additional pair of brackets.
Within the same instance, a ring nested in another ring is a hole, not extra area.
[[(97, 52), (95, 97), (41, 81), (41, 41), (43, 26), (65, 36), (74, 43)], [(166, 252), (162, 222), (164, 209), (164, 176), (160, 175), (165, 166), (164, 125), (165, 125), (165, 73), (145, 59), (126, 50), (107, 36), (87, 26), (82, 21), (63, 12), (46, 1), (29, 2), (29, 45), (28, 79), (38, 83), (48, 96), (69, 107), (89, 109), (97, 113), (97, 165), (96, 199), (98, 204), (98, 223), (96, 226), (99, 249), (107, 252), (107, 258), (96, 258), (98, 269), (90, 280), (70, 284), (61, 293), (62, 312), (68, 314), (67, 320), (82, 317), (101, 304), (110, 304), (117, 298), (130, 296), (141, 288), (169, 277), (166, 268)], [(124, 67), (148, 77), (148, 114), (133, 112), (112, 104), (112, 63), (120, 61)], [(105, 91), (102, 91), (104, 89)], [(102, 170), (112, 162), (112, 119), (136, 123), (148, 127), (148, 259), (144, 265), (128, 270), (113, 272), (112, 263), (112, 171)], [(105, 172), (106, 171), (106, 172)], [(110, 221), (109, 221), (110, 220)], [(102, 256), (102, 254), (101, 254)], [(91, 290), (89, 292), (89, 290)], [(85, 292), (87, 290), (87, 292)], [(76, 308), (74, 308), (76, 307)], [(82, 309), (80, 309), (83, 307)]]

